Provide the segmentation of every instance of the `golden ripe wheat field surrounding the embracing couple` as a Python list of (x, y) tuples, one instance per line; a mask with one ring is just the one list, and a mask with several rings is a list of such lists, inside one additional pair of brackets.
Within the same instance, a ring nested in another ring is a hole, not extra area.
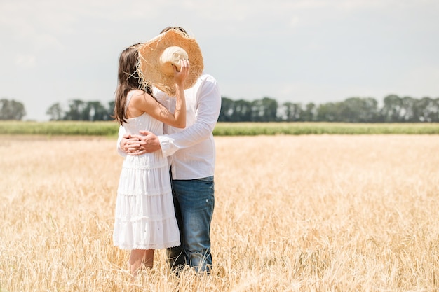
[(439, 136), (216, 137), (214, 269), (133, 279), (104, 137), (0, 137), (0, 291), (436, 291)]

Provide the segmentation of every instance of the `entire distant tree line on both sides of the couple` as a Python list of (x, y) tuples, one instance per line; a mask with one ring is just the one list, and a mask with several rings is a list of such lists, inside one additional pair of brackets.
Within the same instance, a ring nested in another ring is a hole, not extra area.
[[(50, 106), (50, 120), (113, 120), (114, 102), (69, 100)], [(0, 99), (0, 120), (22, 120), (21, 102)], [(349, 97), (342, 102), (308, 104), (284, 102), (263, 97), (254, 101), (222, 97), (219, 122), (339, 122), (339, 123), (439, 123), (439, 98), (388, 95), (379, 106), (372, 97)]]

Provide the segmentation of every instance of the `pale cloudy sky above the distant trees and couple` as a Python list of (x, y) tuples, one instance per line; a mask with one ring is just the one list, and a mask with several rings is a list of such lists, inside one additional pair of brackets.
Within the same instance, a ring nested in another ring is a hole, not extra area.
[(436, 98), (438, 15), (437, 0), (0, 0), (0, 99), (25, 120), (72, 99), (107, 105), (121, 51), (170, 25), (230, 99)]

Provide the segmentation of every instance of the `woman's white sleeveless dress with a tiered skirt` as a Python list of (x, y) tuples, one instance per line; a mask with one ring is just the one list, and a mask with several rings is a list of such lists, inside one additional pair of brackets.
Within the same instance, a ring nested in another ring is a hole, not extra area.
[[(133, 92), (128, 93), (127, 106)], [(163, 134), (163, 123), (143, 113), (123, 123), (127, 134)], [(161, 151), (127, 155), (119, 179), (113, 232), (120, 249), (165, 249), (180, 245), (168, 160)]]

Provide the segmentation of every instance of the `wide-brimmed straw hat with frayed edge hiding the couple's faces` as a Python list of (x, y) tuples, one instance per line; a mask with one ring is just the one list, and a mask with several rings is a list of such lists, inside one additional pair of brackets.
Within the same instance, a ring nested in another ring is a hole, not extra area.
[(191, 67), (184, 81), (184, 89), (191, 88), (203, 73), (203, 55), (195, 39), (170, 29), (139, 47), (137, 71), (145, 85), (150, 83), (168, 95), (175, 96), (172, 64), (180, 70), (180, 59), (189, 59)]

